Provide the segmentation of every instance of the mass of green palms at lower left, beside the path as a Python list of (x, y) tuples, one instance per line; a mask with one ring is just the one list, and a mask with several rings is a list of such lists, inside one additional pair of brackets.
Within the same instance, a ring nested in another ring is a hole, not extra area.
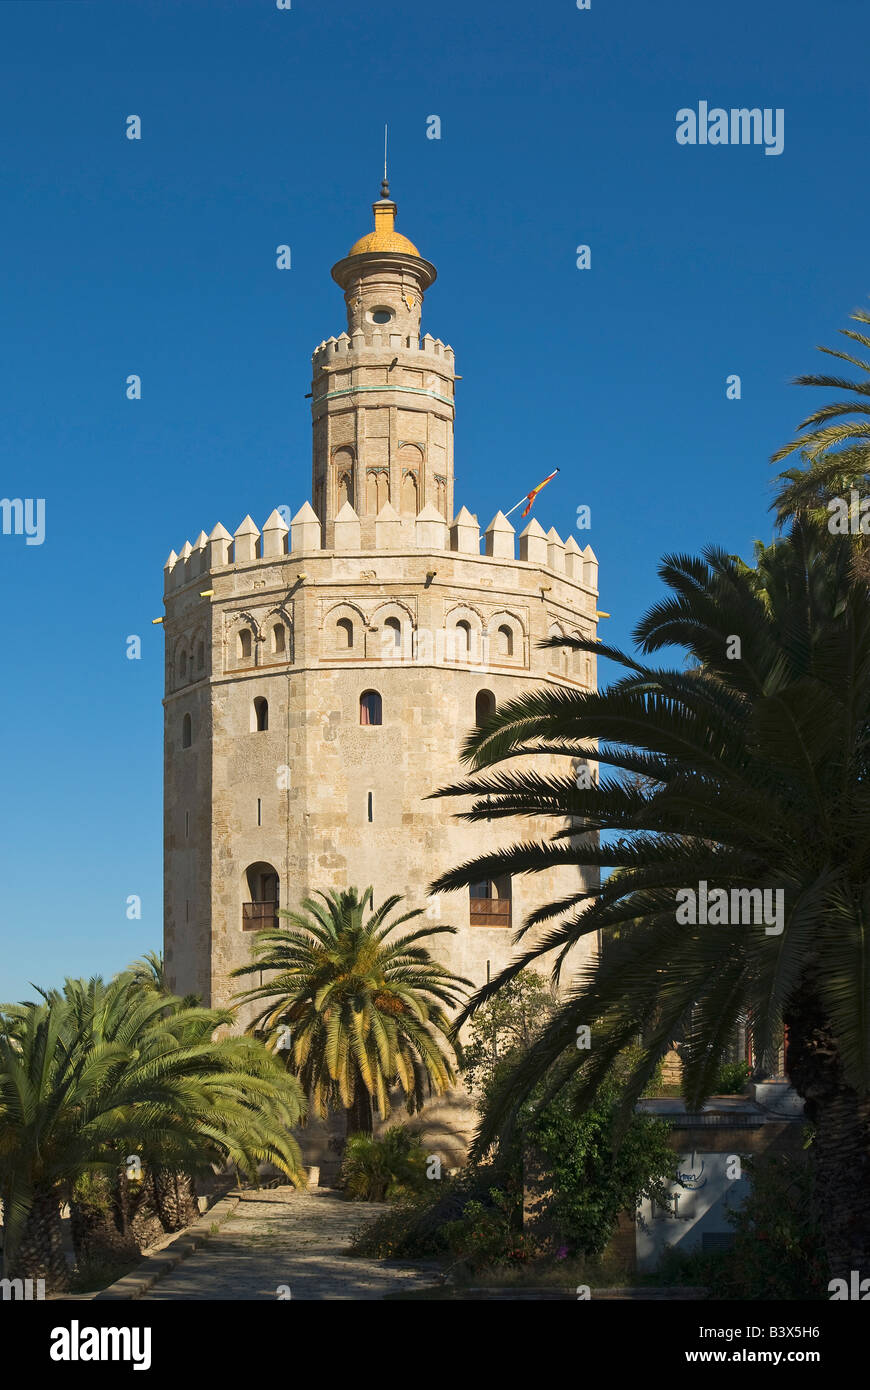
[(170, 1172), (272, 1162), (303, 1183), (289, 1129), (299, 1084), (249, 1037), (213, 1041), (232, 1013), (183, 1008), (132, 976), (69, 980), (0, 1013), (4, 1273), (63, 1289), (60, 1204), (126, 1155)]

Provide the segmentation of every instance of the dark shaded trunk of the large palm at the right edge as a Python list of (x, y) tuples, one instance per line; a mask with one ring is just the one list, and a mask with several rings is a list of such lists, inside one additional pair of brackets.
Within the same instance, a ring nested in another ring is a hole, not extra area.
[(785, 1015), (788, 1077), (814, 1125), (816, 1213), (831, 1276), (870, 1273), (870, 1098), (845, 1083), (831, 1027), (810, 987)]

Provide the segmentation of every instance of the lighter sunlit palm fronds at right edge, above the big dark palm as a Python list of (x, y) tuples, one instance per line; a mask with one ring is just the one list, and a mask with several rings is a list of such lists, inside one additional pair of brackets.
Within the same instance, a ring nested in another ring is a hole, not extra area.
[[(857, 324), (870, 324), (870, 313), (856, 309), (851, 316)], [(870, 336), (841, 328), (839, 332), (870, 350)], [(798, 425), (798, 436), (773, 455), (773, 463), (780, 463), (789, 455), (801, 453), (803, 468), (787, 468), (780, 474), (782, 486), (774, 502), (780, 521), (787, 521), (798, 512), (810, 512), (826, 517), (831, 498), (848, 499), (852, 488), (867, 489), (870, 473), (870, 361), (856, 357), (852, 352), (835, 348), (819, 348), (828, 357), (857, 367), (863, 379), (813, 374), (798, 377), (795, 385), (824, 386), (830, 391), (851, 392), (851, 399), (834, 400), (814, 410)], [(853, 417), (853, 418), (849, 418)], [(806, 431), (806, 434), (801, 434)]]

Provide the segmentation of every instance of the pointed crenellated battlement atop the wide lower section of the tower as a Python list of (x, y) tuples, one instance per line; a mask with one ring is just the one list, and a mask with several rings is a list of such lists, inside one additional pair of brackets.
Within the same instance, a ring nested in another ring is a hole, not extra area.
[(374, 545), (363, 546), (360, 517), (346, 502), (335, 518), (334, 543), (327, 550), (321, 543), (320, 518), (310, 502), (303, 503), (289, 524), (282, 516), (286, 510), (286, 507), (281, 512), (275, 509), (263, 523), (261, 531), (252, 517), (246, 516), (232, 535), (218, 523), (208, 535), (200, 531), (193, 545), (185, 541), (178, 553), (170, 552), (164, 566), (164, 594), (177, 592), (215, 570), (270, 564), (284, 556), (317, 552), (370, 555), (372, 550), (420, 550), (432, 556), (448, 552), (479, 560), (531, 566), (550, 570), (570, 584), (598, 594), (598, 559), (592, 546), (586, 545), (581, 550), (573, 535), (563, 541), (555, 527), (545, 532), (534, 518), (517, 538), (514, 527), (502, 512), (496, 512), (486, 530), (481, 532), (478, 518), (467, 507), (461, 507), (452, 525), (448, 525), (431, 505), (424, 506), (411, 521), (410, 517), (400, 517), (388, 502), (375, 518)]

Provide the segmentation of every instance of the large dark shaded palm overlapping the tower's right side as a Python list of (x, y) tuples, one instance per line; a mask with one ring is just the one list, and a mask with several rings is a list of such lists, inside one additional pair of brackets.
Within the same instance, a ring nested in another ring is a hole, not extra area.
[[(639, 1036), (628, 1104), (682, 1037), (687, 1101), (698, 1105), (741, 1016), (756, 1052), (785, 1023), (839, 1275), (870, 1268), (870, 607), (846, 538), (799, 523), (756, 559), (750, 569), (713, 548), (664, 559), (671, 594), (634, 635), (643, 653), (684, 646), (688, 670), (592, 641), (546, 644), (593, 651), (623, 676), (600, 692), (542, 689), (502, 706), (467, 738), (474, 776), (438, 795), (474, 795), (466, 820), (550, 816), (556, 831), (464, 863), (431, 891), (566, 863), (613, 870), (532, 912), (514, 962), (466, 1009), (549, 952), (557, 979), (575, 942), (618, 938), (571, 981), (502, 1086), (478, 1152), (542, 1079), (545, 1104), (580, 1072), (585, 1102)], [(571, 776), (498, 766), (542, 753), (598, 759), (617, 774), (582, 790)], [(599, 844), (599, 834), (618, 838)], [(728, 903), (732, 890), (781, 892), (781, 933), (773, 922), (767, 931), (681, 920), (688, 899), (677, 894), (702, 881)], [(589, 1052), (574, 1047), (580, 1024), (593, 1024)]]

